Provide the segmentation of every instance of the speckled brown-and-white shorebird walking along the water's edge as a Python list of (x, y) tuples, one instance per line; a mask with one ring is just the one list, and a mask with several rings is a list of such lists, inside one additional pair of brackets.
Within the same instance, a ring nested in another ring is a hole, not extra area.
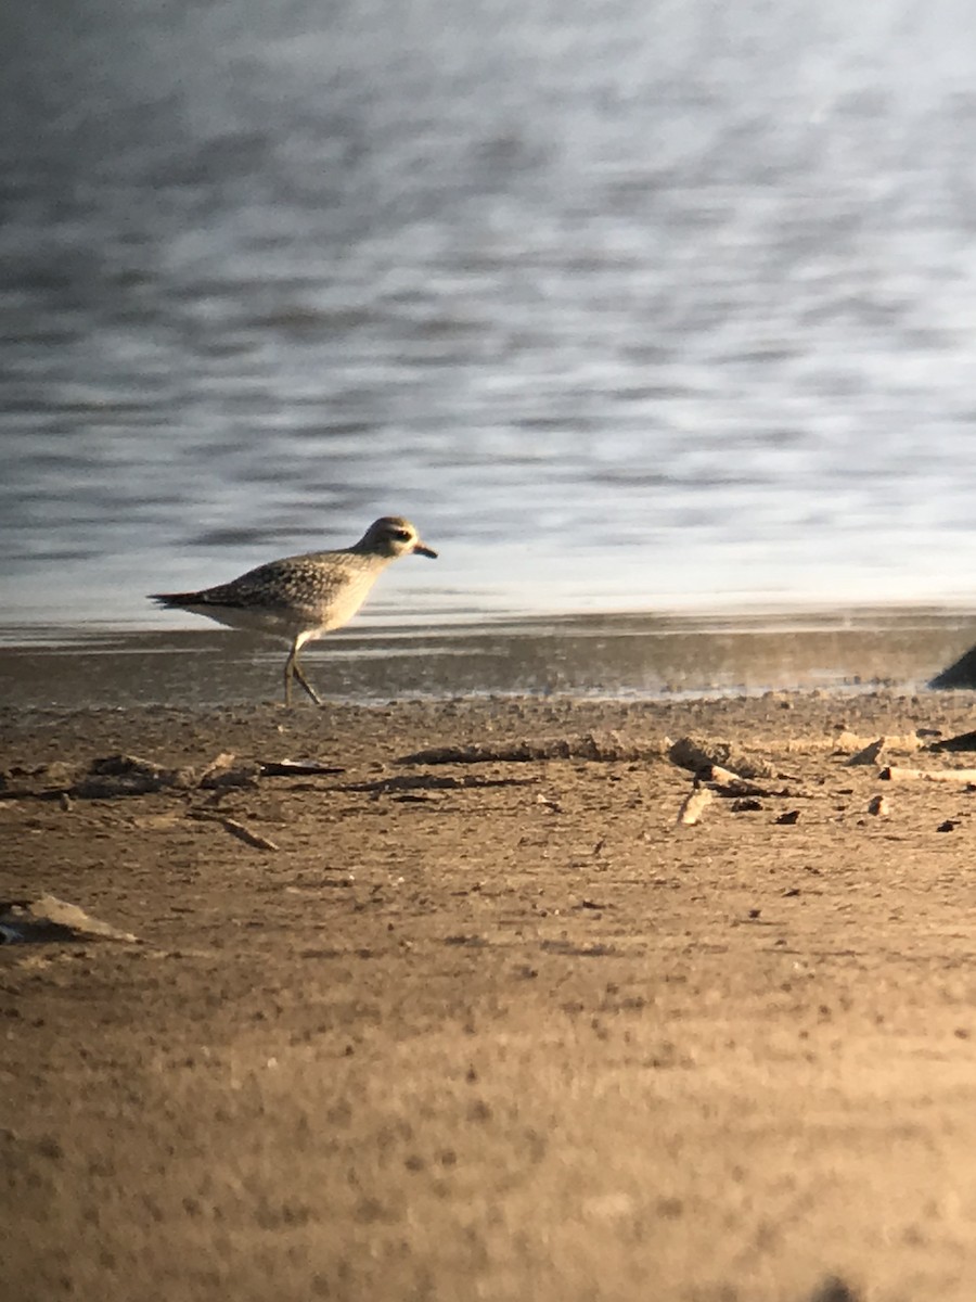
[(150, 600), (167, 609), (206, 615), (230, 629), (285, 638), (291, 644), (285, 661), (285, 704), (291, 704), (291, 680), (297, 678), (321, 706), (321, 697), (298, 663), (298, 652), (323, 633), (349, 624), (390, 561), (411, 553), (437, 557), (409, 519), (383, 516), (358, 543), (341, 551), (285, 556), (229, 583), (199, 592), (152, 592)]

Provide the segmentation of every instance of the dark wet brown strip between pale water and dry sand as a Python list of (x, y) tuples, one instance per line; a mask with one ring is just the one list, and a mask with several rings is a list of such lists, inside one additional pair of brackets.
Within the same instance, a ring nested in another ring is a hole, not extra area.
[[(25, 707), (272, 700), (284, 652), (212, 629), (22, 629), (0, 642), (0, 697)], [(657, 699), (763, 690), (919, 690), (976, 643), (976, 613), (854, 607), (593, 613), (437, 626), (359, 621), (311, 643), (333, 700), (518, 694)]]

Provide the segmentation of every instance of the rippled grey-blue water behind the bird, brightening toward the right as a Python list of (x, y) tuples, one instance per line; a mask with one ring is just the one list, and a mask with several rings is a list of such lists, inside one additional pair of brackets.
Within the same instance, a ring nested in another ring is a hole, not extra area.
[(379, 621), (972, 602), (969, 29), (12, 0), (0, 637), (389, 510)]

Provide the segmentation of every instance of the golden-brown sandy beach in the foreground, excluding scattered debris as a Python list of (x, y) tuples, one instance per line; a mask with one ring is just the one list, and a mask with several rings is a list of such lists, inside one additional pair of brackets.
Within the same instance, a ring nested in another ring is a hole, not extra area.
[[(139, 937), (0, 949), (7, 1295), (968, 1302), (973, 796), (878, 775), (975, 713), (7, 711), (4, 896)], [(675, 825), (688, 733), (757, 807)], [(116, 753), (180, 777), (57, 794)]]

